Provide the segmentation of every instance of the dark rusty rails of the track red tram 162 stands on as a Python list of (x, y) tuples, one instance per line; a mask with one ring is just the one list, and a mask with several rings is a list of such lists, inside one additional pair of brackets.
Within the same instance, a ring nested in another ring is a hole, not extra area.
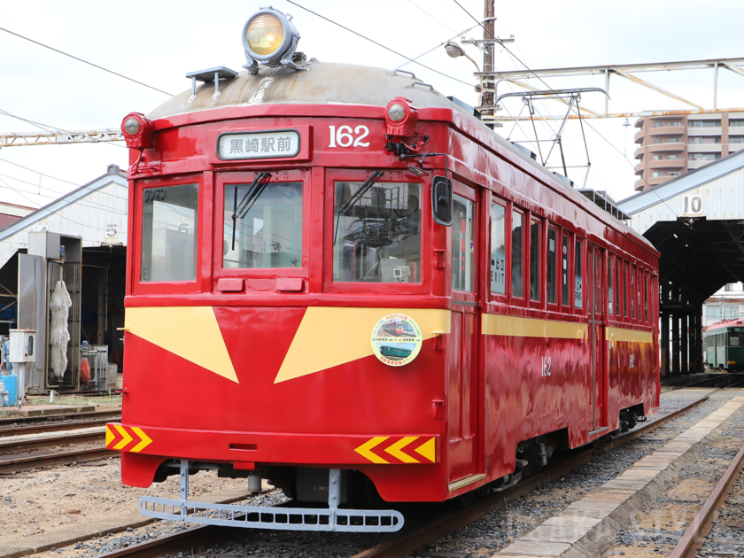
[[(616, 438), (610, 439), (601, 446), (589, 446), (582, 450), (578, 450), (567, 461), (563, 461), (550, 469), (541, 471), (505, 490), (496, 492), (482, 500), (478, 500), (468, 508), (456, 511), (451, 510), (445, 514), (430, 519), (425, 524), (405, 529), (399, 534), (393, 536), (391, 539), (388, 539), (377, 546), (368, 548), (358, 554), (354, 554), (352, 558), (383, 558), (410, 554), (421, 546), (433, 543), (441, 537), (444, 537), (469, 523), (477, 521), (486, 513), (487, 510), (499, 508), (509, 500), (515, 500), (519, 496), (533, 491), (540, 485), (550, 483), (557, 478), (567, 475), (572, 470), (592, 461), (598, 454), (608, 452), (618, 446), (627, 444), (628, 442), (639, 438), (643, 434), (663, 425), (665, 422), (669, 422), (679, 415), (685, 414), (690, 409), (701, 405), (701, 403), (708, 399), (709, 398), (706, 395), (686, 407), (681, 407), (653, 421), (641, 423), (635, 429), (625, 432)], [(233, 531), (235, 530), (206, 525), (181, 531), (172, 535), (162, 536), (158, 539), (121, 548), (106, 554), (100, 554), (98, 558), (154, 558), (165, 554), (176, 554), (189, 548), (212, 544), (216, 540), (228, 537)]]

